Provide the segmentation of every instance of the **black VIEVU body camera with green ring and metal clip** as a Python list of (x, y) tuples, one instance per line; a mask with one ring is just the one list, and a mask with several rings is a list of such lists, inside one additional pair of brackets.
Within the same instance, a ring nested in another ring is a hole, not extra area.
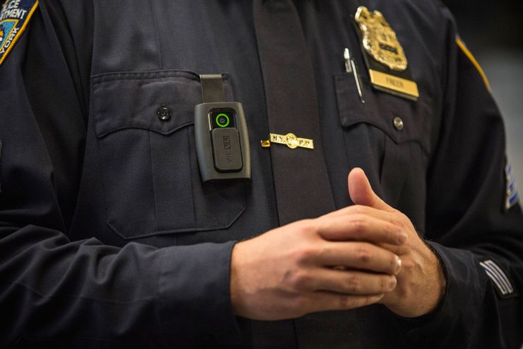
[(242, 103), (225, 102), (221, 74), (200, 75), (203, 103), (194, 107), (201, 180), (250, 179), (249, 134)]

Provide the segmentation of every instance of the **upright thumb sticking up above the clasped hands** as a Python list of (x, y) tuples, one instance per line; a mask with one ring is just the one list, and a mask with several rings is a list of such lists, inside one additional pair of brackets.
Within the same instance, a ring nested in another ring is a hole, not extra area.
[(370, 187), (369, 180), (361, 168), (353, 168), (348, 173), (348, 195), (355, 205), (374, 207), (382, 211), (394, 211), (380, 197), (378, 197)]

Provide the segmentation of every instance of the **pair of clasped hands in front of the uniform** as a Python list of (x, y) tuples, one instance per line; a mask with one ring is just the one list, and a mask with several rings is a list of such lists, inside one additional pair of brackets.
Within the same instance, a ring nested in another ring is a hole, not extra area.
[(235, 314), (278, 320), (377, 302), (407, 317), (435, 309), (445, 277), (409, 218), (375, 195), (360, 168), (348, 188), (355, 205), (236, 244)]

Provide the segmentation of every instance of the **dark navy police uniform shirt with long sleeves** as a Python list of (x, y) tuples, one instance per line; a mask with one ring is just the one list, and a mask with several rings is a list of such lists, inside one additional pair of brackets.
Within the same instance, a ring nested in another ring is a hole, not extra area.
[[(396, 31), (418, 101), (370, 86), (351, 23), (361, 5)], [(271, 153), (259, 145), (277, 130), (253, 2), (42, 0), (0, 65), (1, 348), (522, 345), (523, 216), (519, 205), (505, 210), (503, 122), (449, 11), (429, 0), (295, 6), (336, 208), (351, 205), (346, 176), (363, 168), (439, 256), (440, 306), (418, 319), (382, 305), (295, 321), (235, 317), (233, 245), (279, 225)], [(245, 109), (251, 181), (201, 182), (199, 74), (225, 74), (226, 98)]]

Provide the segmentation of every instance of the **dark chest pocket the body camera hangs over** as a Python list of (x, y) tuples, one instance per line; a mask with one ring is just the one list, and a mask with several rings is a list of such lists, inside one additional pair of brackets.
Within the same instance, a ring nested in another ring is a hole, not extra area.
[[(225, 94), (232, 95), (225, 79)], [(107, 224), (125, 239), (225, 229), (245, 210), (238, 181), (202, 183), (194, 142), (201, 86), (188, 71), (93, 78)]]

